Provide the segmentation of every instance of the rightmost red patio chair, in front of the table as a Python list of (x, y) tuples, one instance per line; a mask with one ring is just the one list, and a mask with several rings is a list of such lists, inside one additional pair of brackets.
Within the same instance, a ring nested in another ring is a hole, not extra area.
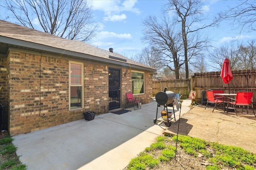
[[(250, 92), (250, 91), (239, 91), (239, 92), (236, 92), (236, 99), (229, 98), (230, 100), (232, 100), (229, 103), (233, 105), (235, 112), (236, 112), (236, 106), (242, 106), (242, 113), (243, 113), (243, 110), (246, 109), (244, 106), (252, 107), (252, 94), (253, 92)], [(247, 109), (246, 111), (248, 114)], [(254, 113), (254, 116), (256, 117), (253, 107), (252, 107), (252, 111)], [(237, 112), (236, 112), (236, 116), (237, 116)]]

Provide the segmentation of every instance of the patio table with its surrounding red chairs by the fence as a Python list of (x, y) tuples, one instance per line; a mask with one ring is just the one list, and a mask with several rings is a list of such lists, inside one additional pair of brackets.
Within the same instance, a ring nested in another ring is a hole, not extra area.
[[(218, 105), (222, 104), (224, 112), (228, 113), (228, 111), (231, 109), (235, 111), (236, 116), (237, 114), (240, 113), (240, 112), (238, 113), (238, 110), (237, 110), (238, 108), (242, 108), (241, 114), (243, 113), (244, 109), (247, 111), (247, 114), (249, 114), (248, 109), (249, 107), (251, 107), (254, 113), (254, 116), (256, 117), (256, 114), (252, 106), (252, 95), (253, 95), (253, 92), (247, 91), (247, 90), (238, 91), (236, 92), (236, 94), (230, 94), (230, 93), (224, 93), (224, 90), (208, 89), (206, 90), (206, 97), (207, 97), (206, 107), (208, 106), (208, 104), (214, 104), (214, 108), (212, 110), (213, 112), (214, 109), (217, 109)], [(232, 106), (232, 107), (229, 107), (229, 106)]]

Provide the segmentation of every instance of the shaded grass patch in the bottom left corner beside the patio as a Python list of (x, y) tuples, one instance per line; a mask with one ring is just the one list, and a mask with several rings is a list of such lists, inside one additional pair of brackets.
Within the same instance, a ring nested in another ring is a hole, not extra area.
[(5, 138), (0, 140), (0, 169), (26, 170), (26, 165), (19, 161), (19, 156), (16, 156), (17, 147), (12, 145), (12, 141), (13, 139), (10, 137), (10, 135), (6, 135)]

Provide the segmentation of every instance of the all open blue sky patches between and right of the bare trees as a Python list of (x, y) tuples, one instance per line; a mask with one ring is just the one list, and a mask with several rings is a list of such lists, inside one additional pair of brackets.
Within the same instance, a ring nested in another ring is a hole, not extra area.
[[(141, 40), (143, 25), (146, 16), (161, 14), (162, 6), (167, 0), (92, 0), (95, 20), (100, 24), (98, 36), (90, 42), (101, 49), (108, 50), (130, 57), (140, 52), (147, 45)], [(239, 3), (238, 0), (205, 0), (203, 10), (205, 15), (213, 18), (220, 10), (227, 10)], [(219, 47), (230, 40), (246, 41), (255, 39), (256, 33), (242, 33), (240, 36), (231, 29), (226, 22), (220, 27), (206, 31), (213, 37), (212, 45)], [(128, 55), (128, 56), (127, 56)]]

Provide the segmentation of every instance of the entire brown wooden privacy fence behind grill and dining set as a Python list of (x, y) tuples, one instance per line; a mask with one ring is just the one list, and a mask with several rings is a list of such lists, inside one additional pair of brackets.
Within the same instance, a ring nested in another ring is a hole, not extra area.
[[(256, 70), (234, 70), (233, 79), (230, 81), (230, 93), (236, 93), (240, 90), (249, 90), (253, 92), (252, 103), (256, 108)], [(189, 80), (165, 80), (153, 81), (153, 96), (167, 87), (174, 93), (180, 92), (182, 98), (188, 98), (190, 90), (196, 92), (195, 102), (201, 103), (202, 92), (207, 89), (222, 89), (228, 93), (228, 84), (225, 84), (220, 77), (220, 71), (194, 73)]]

